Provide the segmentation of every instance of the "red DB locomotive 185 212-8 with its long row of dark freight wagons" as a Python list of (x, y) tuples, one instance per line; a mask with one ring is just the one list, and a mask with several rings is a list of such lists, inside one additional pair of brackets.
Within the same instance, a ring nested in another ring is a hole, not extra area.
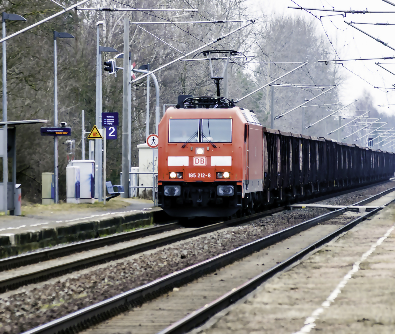
[(381, 180), (395, 155), (260, 124), (223, 97), (187, 97), (159, 124), (158, 204), (173, 217), (247, 215)]

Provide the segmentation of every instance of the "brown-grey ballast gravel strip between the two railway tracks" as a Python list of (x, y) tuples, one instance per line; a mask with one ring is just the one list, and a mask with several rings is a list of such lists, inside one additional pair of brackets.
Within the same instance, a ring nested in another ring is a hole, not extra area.
[[(0, 298), (0, 333), (21, 333), (193, 264), (245, 245), (328, 212), (326, 209), (282, 211), (253, 223), (162, 247), (105, 268), (73, 273), (41, 288), (28, 286)], [(328, 222), (329, 223), (329, 222)]]

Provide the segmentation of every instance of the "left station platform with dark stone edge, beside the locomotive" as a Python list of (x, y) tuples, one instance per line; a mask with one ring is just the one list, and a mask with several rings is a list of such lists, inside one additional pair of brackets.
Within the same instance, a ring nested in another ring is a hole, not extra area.
[(150, 225), (162, 212), (150, 200), (132, 198), (111, 199), (105, 206), (22, 206), (22, 216), (0, 216), (0, 258)]

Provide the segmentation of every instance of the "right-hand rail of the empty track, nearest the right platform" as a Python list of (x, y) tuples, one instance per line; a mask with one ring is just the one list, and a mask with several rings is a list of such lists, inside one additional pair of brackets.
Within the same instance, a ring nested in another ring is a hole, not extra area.
[(312, 243), (310, 246), (306, 247), (305, 249), (302, 249), (295, 255), (292, 255), (292, 257), (288, 258), (287, 260), (280, 262), (273, 268), (250, 279), (249, 281), (240, 285), (236, 289), (229, 291), (228, 293), (224, 294), (222, 297), (214, 300), (210, 304), (207, 304), (205, 307), (200, 308), (196, 312), (185, 317), (184, 319), (177, 321), (177, 323), (174, 323), (173, 325), (167, 327), (166, 329), (162, 330), (158, 334), (184, 334), (186, 332), (189, 332), (193, 328), (202, 325), (211, 317), (213, 317), (213, 315), (227, 308), (231, 304), (237, 302), (238, 300), (240, 300), (250, 292), (254, 291), (257, 287), (259, 287), (262, 283), (265, 283), (265, 281), (267, 281), (271, 277), (290, 269), (291, 266), (293, 266), (297, 261), (303, 259), (305, 256), (309, 255), (319, 247), (322, 247), (326, 243), (330, 242), (340, 234), (350, 230), (355, 225), (361, 223), (365, 219), (376, 214), (381, 209), (384, 209), (384, 207), (386, 207), (391, 202), (393, 202), (393, 200), (384, 204), (384, 206), (380, 206), (370, 212), (365, 213), (361, 217), (354, 219), (353, 221), (342, 226), (338, 230), (328, 234), (327, 236), (318, 240), (317, 242)]

